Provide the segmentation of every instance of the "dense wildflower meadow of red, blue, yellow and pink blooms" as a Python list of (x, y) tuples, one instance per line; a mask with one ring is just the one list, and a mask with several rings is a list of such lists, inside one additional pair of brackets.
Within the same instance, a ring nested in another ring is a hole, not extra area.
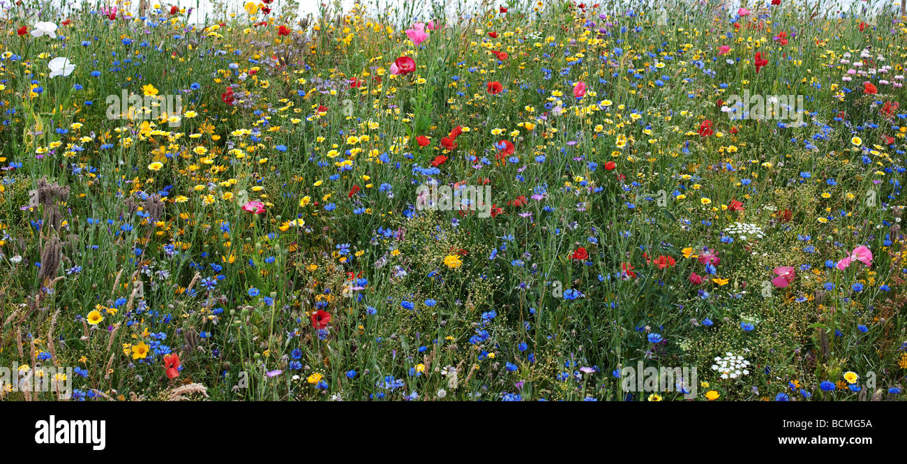
[(903, 400), (900, 2), (213, 4), (0, 2), (0, 401)]

